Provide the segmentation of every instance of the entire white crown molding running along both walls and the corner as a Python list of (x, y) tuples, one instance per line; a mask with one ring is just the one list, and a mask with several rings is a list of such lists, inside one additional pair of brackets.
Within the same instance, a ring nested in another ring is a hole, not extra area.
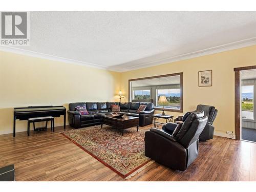
[[(256, 45), (256, 37), (231, 42), (229, 44), (224, 44), (221, 46), (198, 50), (198, 51), (191, 52), (191, 53), (186, 53), (186, 54), (176, 55), (173, 57), (168, 57), (168, 58), (159, 59), (159, 60), (155, 60), (155, 61), (140, 63), (139, 65), (125, 67), (123, 69), (120, 69), (122, 67), (122, 65), (118, 65), (118, 68), (117, 68), (117, 66), (106, 67), (106, 66), (101, 66), (101, 65), (91, 63), (91, 62), (84, 62), (84, 61), (79, 61), (79, 60), (74, 60), (74, 59), (68, 59), (68, 58), (58, 57), (58, 56), (54, 56), (54, 55), (19, 49), (16, 47), (10, 47), (10, 46), (0, 46), (0, 51), (12, 52), (12, 53), (16, 53), (16, 54), (31, 56), (31, 57), (55, 60), (55, 61), (70, 63), (70, 64), (74, 64), (74, 65), (87, 66), (87, 67), (103, 69), (103, 70), (109, 70), (109, 71), (115, 71), (115, 72), (126, 72), (126, 71), (132, 71), (132, 70), (137, 70), (137, 69), (142, 69), (142, 68), (147, 68), (147, 67), (152, 67), (152, 66), (163, 65), (166, 63), (170, 63), (170, 62), (200, 57), (200, 56), (204, 56), (204, 55), (210, 55), (210, 54), (220, 53), (220, 52), (224, 52), (224, 51), (239, 49), (239, 48), (243, 48), (243, 47), (249, 47), (249, 46), (253, 46), (253, 45)], [(125, 65), (125, 64), (127, 64), (127, 63), (123, 63), (123, 65)]]

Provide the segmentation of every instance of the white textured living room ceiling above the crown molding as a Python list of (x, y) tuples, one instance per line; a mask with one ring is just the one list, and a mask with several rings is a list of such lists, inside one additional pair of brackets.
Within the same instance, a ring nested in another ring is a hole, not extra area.
[(18, 49), (127, 71), (256, 40), (256, 12), (36, 11), (30, 28), (30, 46)]

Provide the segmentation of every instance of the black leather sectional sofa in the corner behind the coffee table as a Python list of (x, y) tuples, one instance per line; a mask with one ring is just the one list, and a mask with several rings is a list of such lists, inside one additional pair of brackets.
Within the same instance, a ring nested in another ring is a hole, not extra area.
[[(101, 123), (101, 117), (111, 114), (111, 105), (119, 105), (121, 113), (129, 116), (139, 117), (139, 126), (152, 123), (151, 115), (154, 114), (154, 104), (150, 102), (75, 102), (69, 103), (69, 124), (74, 128), (97, 125)], [(136, 113), (140, 105), (147, 105), (145, 111)], [(86, 105), (89, 115), (80, 115), (75, 111), (76, 106)]]

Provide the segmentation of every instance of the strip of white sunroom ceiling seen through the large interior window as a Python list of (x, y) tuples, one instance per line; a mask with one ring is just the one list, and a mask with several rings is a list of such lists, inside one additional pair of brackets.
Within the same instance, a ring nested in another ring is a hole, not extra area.
[(132, 81), (132, 87), (163, 86), (180, 84), (180, 75)]

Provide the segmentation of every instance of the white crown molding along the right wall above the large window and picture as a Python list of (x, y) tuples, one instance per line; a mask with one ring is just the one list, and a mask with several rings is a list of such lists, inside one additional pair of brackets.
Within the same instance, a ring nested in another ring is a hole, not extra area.
[[(224, 52), (224, 51), (229, 51), (229, 50), (234, 50), (234, 49), (239, 49), (239, 48), (244, 48), (244, 47), (249, 47), (249, 46), (254, 46), (254, 45), (256, 45), (256, 37), (252, 37), (252, 38), (248, 38), (248, 39), (244, 39), (244, 40), (240, 40), (240, 41), (235, 41), (235, 42), (231, 42), (231, 43), (224, 44), (221, 46), (211, 47), (211, 48), (207, 48), (207, 49), (203, 49), (203, 50), (199, 50), (199, 51), (195, 51), (195, 52), (191, 52), (191, 53), (186, 53), (186, 54), (181, 54), (181, 55), (168, 57), (168, 58), (164, 58), (164, 59), (159, 59), (159, 60), (155, 60), (155, 61), (140, 63), (139, 65), (126, 67), (119, 71), (126, 72), (126, 71), (132, 71), (132, 70), (136, 70), (136, 69), (153, 67), (153, 66), (170, 63), (170, 62), (186, 60), (186, 59), (190, 59), (190, 58), (220, 53), (220, 52)], [(119, 65), (119, 67), (120, 66), (121, 65)], [(117, 70), (117, 69), (115, 69), (115, 66), (113, 66), (113, 68), (109, 68), (109, 69)]]

